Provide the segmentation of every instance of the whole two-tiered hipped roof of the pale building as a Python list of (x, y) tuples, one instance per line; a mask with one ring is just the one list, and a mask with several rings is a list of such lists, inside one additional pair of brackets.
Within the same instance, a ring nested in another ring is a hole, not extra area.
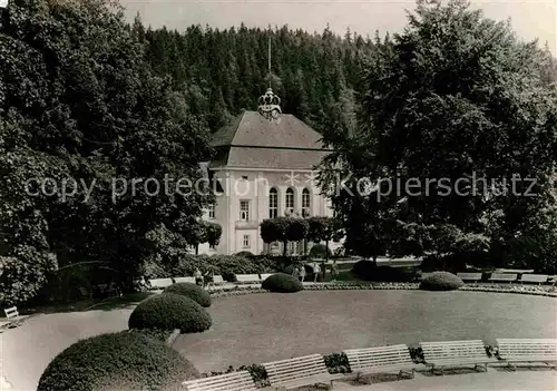
[(331, 151), (317, 131), (293, 115), (270, 123), (257, 111), (242, 113), (211, 145), (217, 154), (209, 167), (313, 169)]

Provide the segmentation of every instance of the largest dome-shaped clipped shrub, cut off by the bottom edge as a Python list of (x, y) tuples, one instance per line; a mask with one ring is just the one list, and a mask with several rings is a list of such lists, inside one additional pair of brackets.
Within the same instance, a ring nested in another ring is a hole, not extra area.
[(42, 373), (38, 391), (179, 390), (199, 372), (177, 351), (143, 333), (124, 331), (78, 341)]

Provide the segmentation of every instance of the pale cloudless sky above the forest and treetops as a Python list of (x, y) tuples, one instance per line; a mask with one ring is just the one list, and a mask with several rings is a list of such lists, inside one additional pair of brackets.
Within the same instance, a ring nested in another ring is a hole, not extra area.
[[(471, 0), (471, 7), (483, 10), (495, 20), (510, 18), (518, 37), (526, 41), (546, 41), (557, 55), (557, 0)], [(414, 9), (413, 0), (120, 0), (133, 20), (140, 13), (145, 25), (184, 30), (192, 25), (228, 28), (244, 22), (246, 27), (268, 25), (310, 32), (330, 28), (343, 35), (346, 28), (362, 36), (379, 30), (400, 32), (407, 23), (405, 11)]]

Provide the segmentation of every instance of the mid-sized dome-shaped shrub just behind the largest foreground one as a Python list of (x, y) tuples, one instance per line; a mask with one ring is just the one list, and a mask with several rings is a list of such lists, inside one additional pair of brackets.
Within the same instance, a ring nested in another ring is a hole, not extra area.
[(211, 315), (192, 299), (163, 293), (144, 300), (129, 315), (129, 329), (179, 329), (182, 334), (201, 333), (211, 328)]

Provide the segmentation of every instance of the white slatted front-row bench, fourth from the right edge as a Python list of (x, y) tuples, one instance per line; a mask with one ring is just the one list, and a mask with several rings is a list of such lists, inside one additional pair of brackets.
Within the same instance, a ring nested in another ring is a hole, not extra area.
[(310, 354), (295, 359), (287, 359), (264, 363), (268, 381), (272, 387), (296, 389), (304, 385), (329, 384), (333, 388), (333, 380), (342, 374), (331, 374), (325, 366), (321, 354)]

